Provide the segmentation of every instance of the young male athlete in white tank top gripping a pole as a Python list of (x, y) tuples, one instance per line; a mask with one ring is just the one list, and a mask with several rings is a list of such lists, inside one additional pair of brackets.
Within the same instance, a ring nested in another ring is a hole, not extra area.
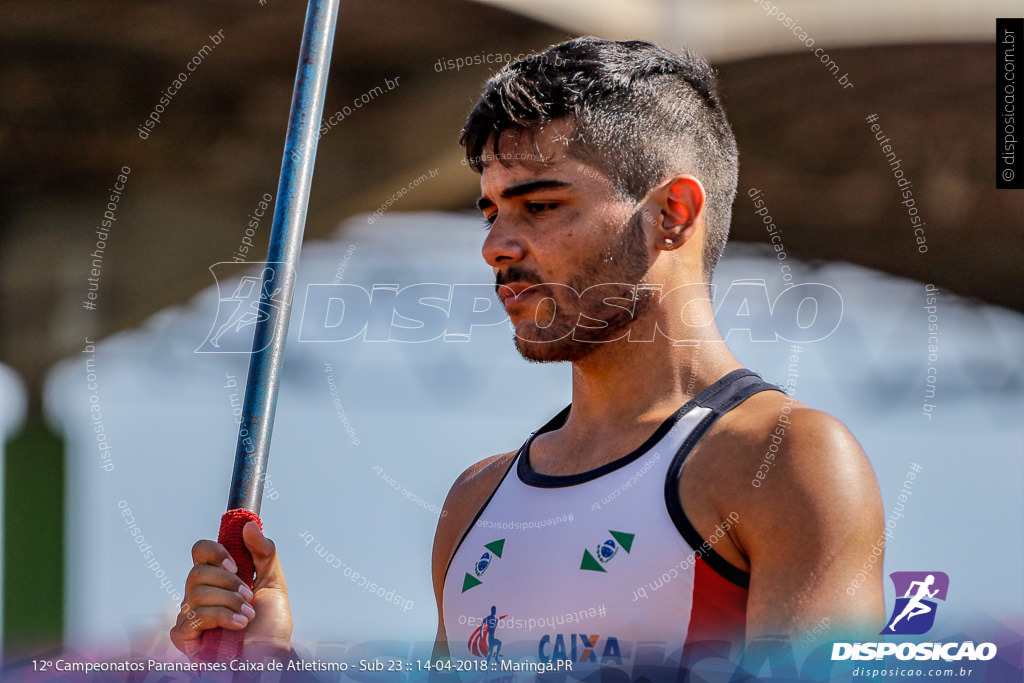
[[(572, 402), (452, 486), (435, 654), (635, 671), (822, 624), (877, 633), (881, 572), (847, 591), (883, 529), (867, 459), (839, 421), (744, 370), (715, 327), (737, 154), (707, 63), (569, 41), (496, 75), (462, 143), (516, 347), (571, 362)], [(171, 631), (183, 651), (214, 627), (289, 648), (273, 545), (255, 524), (246, 542), (255, 595), (221, 546), (194, 547)]]

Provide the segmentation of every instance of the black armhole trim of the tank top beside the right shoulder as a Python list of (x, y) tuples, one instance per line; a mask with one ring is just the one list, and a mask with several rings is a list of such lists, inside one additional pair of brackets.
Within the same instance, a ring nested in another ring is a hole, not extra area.
[[(726, 380), (728, 381), (725, 382)], [(723, 382), (725, 384), (722, 384)], [(751, 585), (751, 575), (748, 572), (733, 566), (727, 559), (719, 555), (711, 544), (707, 544), (707, 548), (701, 548), (706, 542), (694, 528), (689, 517), (686, 516), (683, 503), (679, 498), (679, 478), (682, 475), (683, 464), (686, 462), (687, 456), (719, 418), (756, 393), (782, 391), (782, 389), (765, 382), (759, 375), (750, 370), (737, 370), (734, 373), (729, 373), (709, 388), (713, 387), (717, 387), (713, 395), (703, 398), (703, 400), (698, 400), (701, 396), (694, 399), (702, 408), (710, 408), (711, 413), (705, 416), (703, 420), (686, 436), (676, 452), (676, 456), (672, 459), (668, 475), (665, 477), (665, 503), (669, 509), (669, 516), (690, 548), (693, 551), (699, 548), (700, 557), (712, 569), (721, 574), (723, 579), (745, 589), (750, 588)]]

